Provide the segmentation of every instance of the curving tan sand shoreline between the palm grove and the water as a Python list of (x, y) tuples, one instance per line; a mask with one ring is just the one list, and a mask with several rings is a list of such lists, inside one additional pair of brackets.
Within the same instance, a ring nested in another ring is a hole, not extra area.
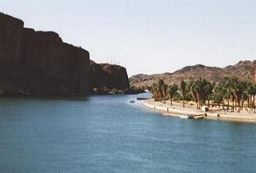
[[(168, 103), (154, 102), (152, 99), (147, 99), (142, 101), (142, 106), (145, 106), (149, 110), (155, 110), (158, 113), (177, 113), (177, 114), (199, 114), (205, 113), (202, 110), (195, 110), (193, 108), (180, 107), (180, 106), (170, 106)], [(214, 121), (234, 121), (234, 122), (244, 122), (244, 123), (256, 123), (256, 114), (255, 113), (247, 113), (246, 115), (240, 113), (223, 113), (223, 112), (206, 112), (207, 117), (206, 120), (214, 120)], [(219, 115), (219, 117), (218, 117)]]

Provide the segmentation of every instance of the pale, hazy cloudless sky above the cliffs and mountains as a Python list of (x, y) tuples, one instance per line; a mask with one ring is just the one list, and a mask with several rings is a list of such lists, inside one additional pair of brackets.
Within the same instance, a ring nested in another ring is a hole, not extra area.
[(0, 0), (0, 12), (129, 76), (256, 60), (256, 0)]

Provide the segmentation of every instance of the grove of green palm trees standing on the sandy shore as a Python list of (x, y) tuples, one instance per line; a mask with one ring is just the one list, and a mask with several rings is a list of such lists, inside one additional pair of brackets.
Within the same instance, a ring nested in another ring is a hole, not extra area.
[(249, 81), (226, 77), (219, 83), (211, 83), (206, 79), (181, 81), (178, 84), (167, 85), (162, 79), (157, 79), (149, 87), (155, 101), (170, 100), (193, 101), (199, 110), (201, 106), (219, 106), (226, 110), (247, 110), (255, 112), (256, 85)]

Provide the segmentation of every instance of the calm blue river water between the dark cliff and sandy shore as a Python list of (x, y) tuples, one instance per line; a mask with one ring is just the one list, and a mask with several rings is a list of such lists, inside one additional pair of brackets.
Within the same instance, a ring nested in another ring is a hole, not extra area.
[(134, 97), (1, 98), (0, 172), (256, 172), (256, 125), (161, 117)]

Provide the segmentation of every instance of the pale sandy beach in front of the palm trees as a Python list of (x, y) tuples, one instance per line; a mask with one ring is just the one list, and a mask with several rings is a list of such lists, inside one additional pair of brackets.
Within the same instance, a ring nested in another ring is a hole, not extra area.
[[(195, 105), (186, 104), (185, 107), (182, 107), (181, 102), (173, 102), (171, 106), (170, 102), (154, 102), (153, 99), (147, 99), (142, 102), (142, 105), (150, 110), (155, 110), (159, 113), (178, 113), (178, 114), (202, 114), (205, 113), (202, 110), (196, 110)], [(210, 108), (205, 119), (208, 120), (219, 120), (219, 121), (238, 121), (238, 122), (247, 122), (247, 123), (256, 123), (256, 113), (254, 111), (249, 112), (247, 110), (242, 110), (240, 113), (231, 112), (227, 110), (222, 110), (219, 108)], [(219, 116), (218, 116), (219, 115)]]

